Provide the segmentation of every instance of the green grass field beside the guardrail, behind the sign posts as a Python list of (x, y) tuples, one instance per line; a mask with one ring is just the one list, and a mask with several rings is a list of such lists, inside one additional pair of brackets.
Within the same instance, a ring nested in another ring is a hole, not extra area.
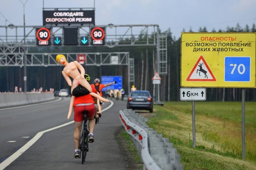
[(193, 148), (192, 102), (154, 105), (148, 124), (168, 137), (181, 154), (184, 169), (256, 169), (256, 103), (245, 102), (245, 160), (242, 159), (241, 102), (195, 102)]

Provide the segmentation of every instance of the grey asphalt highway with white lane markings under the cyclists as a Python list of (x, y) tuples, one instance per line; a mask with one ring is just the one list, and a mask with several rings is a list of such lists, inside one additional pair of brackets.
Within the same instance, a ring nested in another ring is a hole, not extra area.
[(74, 155), (70, 97), (54, 102), (0, 109), (0, 169), (127, 169), (129, 160), (116, 140), (123, 128), (119, 110), (126, 102), (104, 103), (85, 164)]

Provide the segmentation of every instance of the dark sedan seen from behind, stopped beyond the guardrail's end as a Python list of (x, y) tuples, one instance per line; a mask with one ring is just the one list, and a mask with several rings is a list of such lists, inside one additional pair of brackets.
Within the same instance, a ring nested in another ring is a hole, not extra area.
[(131, 91), (127, 98), (127, 109), (143, 109), (153, 112), (153, 99), (147, 90)]

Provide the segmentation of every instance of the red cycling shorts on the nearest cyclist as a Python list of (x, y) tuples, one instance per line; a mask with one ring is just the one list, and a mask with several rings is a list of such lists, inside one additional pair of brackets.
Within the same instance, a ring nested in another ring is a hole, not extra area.
[(75, 105), (74, 108), (74, 120), (79, 122), (79, 121), (83, 121), (83, 111), (87, 110), (88, 114), (87, 117), (90, 119), (91, 117), (94, 116), (95, 113), (95, 107), (94, 107), (94, 103), (86, 103), (86, 105), (80, 105), (77, 104)]

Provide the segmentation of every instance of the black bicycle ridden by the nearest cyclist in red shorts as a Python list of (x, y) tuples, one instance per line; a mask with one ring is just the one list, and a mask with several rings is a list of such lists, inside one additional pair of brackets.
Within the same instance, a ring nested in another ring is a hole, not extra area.
[(89, 151), (89, 139), (88, 139), (88, 134), (89, 134), (89, 130), (87, 129), (87, 117), (88, 111), (84, 110), (83, 111), (83, 130), (80, 136), (80, 141), (79, 141), (79, 149), (80, 149), (80, 155), (79, 157), (81, 158), (81, 154), (82, 154), (82, 164), (85, 161), (86, 158), (86, 154)]

